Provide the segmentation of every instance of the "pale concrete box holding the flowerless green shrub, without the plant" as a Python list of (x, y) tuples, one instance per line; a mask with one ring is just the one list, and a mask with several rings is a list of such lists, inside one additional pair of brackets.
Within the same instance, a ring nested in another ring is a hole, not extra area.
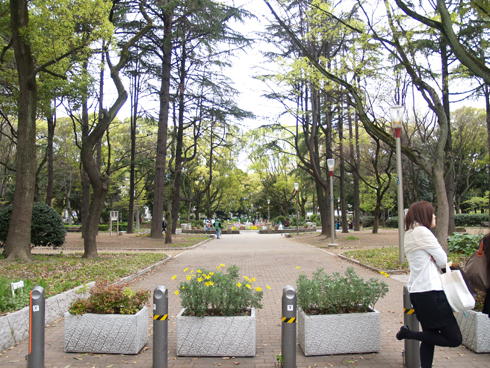
[(298, 340), (305, 356), (361, 354), (381, 350), (381, 314), (307, 315), (298, 310)]

